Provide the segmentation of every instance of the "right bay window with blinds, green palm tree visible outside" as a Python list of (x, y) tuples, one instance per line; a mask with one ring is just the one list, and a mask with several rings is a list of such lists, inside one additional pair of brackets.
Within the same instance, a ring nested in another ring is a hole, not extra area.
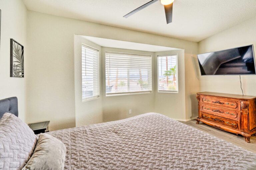
[(178, 92), (178, 55), (157, 56), (159, 92)]

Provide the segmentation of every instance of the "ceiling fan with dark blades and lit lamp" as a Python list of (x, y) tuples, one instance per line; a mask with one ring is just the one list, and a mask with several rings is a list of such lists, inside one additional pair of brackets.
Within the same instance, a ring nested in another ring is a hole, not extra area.
[[(140, 6), (139, 8), (133, 10), (132, 12), (126, 14), (125, 16), (123, 16), (124, 18), (128, 18), (130, 17), (131, 15), (135, 14), (136, 12), (146, 8), (147, 6), (155, 3), (156, 1), (159, 1), (159, 0), (152, 0), (152, 1), (149, 1), (148, 3)], [(161, 4), (164, 5), (164, 10), (165, 10), (165, 17), (166, 17), (166, 22), (167, 24), (171, 23), (172, 22), (172, 5), (173, 5), (173, 2), (174, 0), (160, 0)]]

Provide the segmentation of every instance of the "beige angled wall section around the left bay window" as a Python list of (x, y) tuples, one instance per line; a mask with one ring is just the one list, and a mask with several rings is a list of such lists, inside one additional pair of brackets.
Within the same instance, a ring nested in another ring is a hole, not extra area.
[[(103, 122), (102, 115), (102, 90), (100, 97), (93, 100), (82, 101), (82, 44), (88, 45), (99, 50), (101, 54), (101, 46), (84, 39), (82, 36), (74, 36), (74, 70), (75, 70), (75, 121), (76, 127), (91, 125)], [(100, 71), (102, 70), (102, 62), (100, 56)], [(102, 80), (100, 74), (100, 80)], [(100, 81), (102, 87), (102, 81)]]

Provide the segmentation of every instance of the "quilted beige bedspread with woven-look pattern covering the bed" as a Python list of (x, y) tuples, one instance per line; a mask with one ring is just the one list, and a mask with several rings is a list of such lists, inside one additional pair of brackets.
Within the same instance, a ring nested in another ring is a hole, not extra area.
[(66, 145), (68, 170), (256, 169), (256, 154), (155, 113), (49, 134)]

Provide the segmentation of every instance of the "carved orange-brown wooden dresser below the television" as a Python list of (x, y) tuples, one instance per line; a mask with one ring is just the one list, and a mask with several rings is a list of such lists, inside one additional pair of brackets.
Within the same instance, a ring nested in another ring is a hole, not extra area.
[(198, 118), (203, 122), (245, 137), (250, 143), (251, 135), (256, 135), (256, 97), (225, 93), (197, 93)]

